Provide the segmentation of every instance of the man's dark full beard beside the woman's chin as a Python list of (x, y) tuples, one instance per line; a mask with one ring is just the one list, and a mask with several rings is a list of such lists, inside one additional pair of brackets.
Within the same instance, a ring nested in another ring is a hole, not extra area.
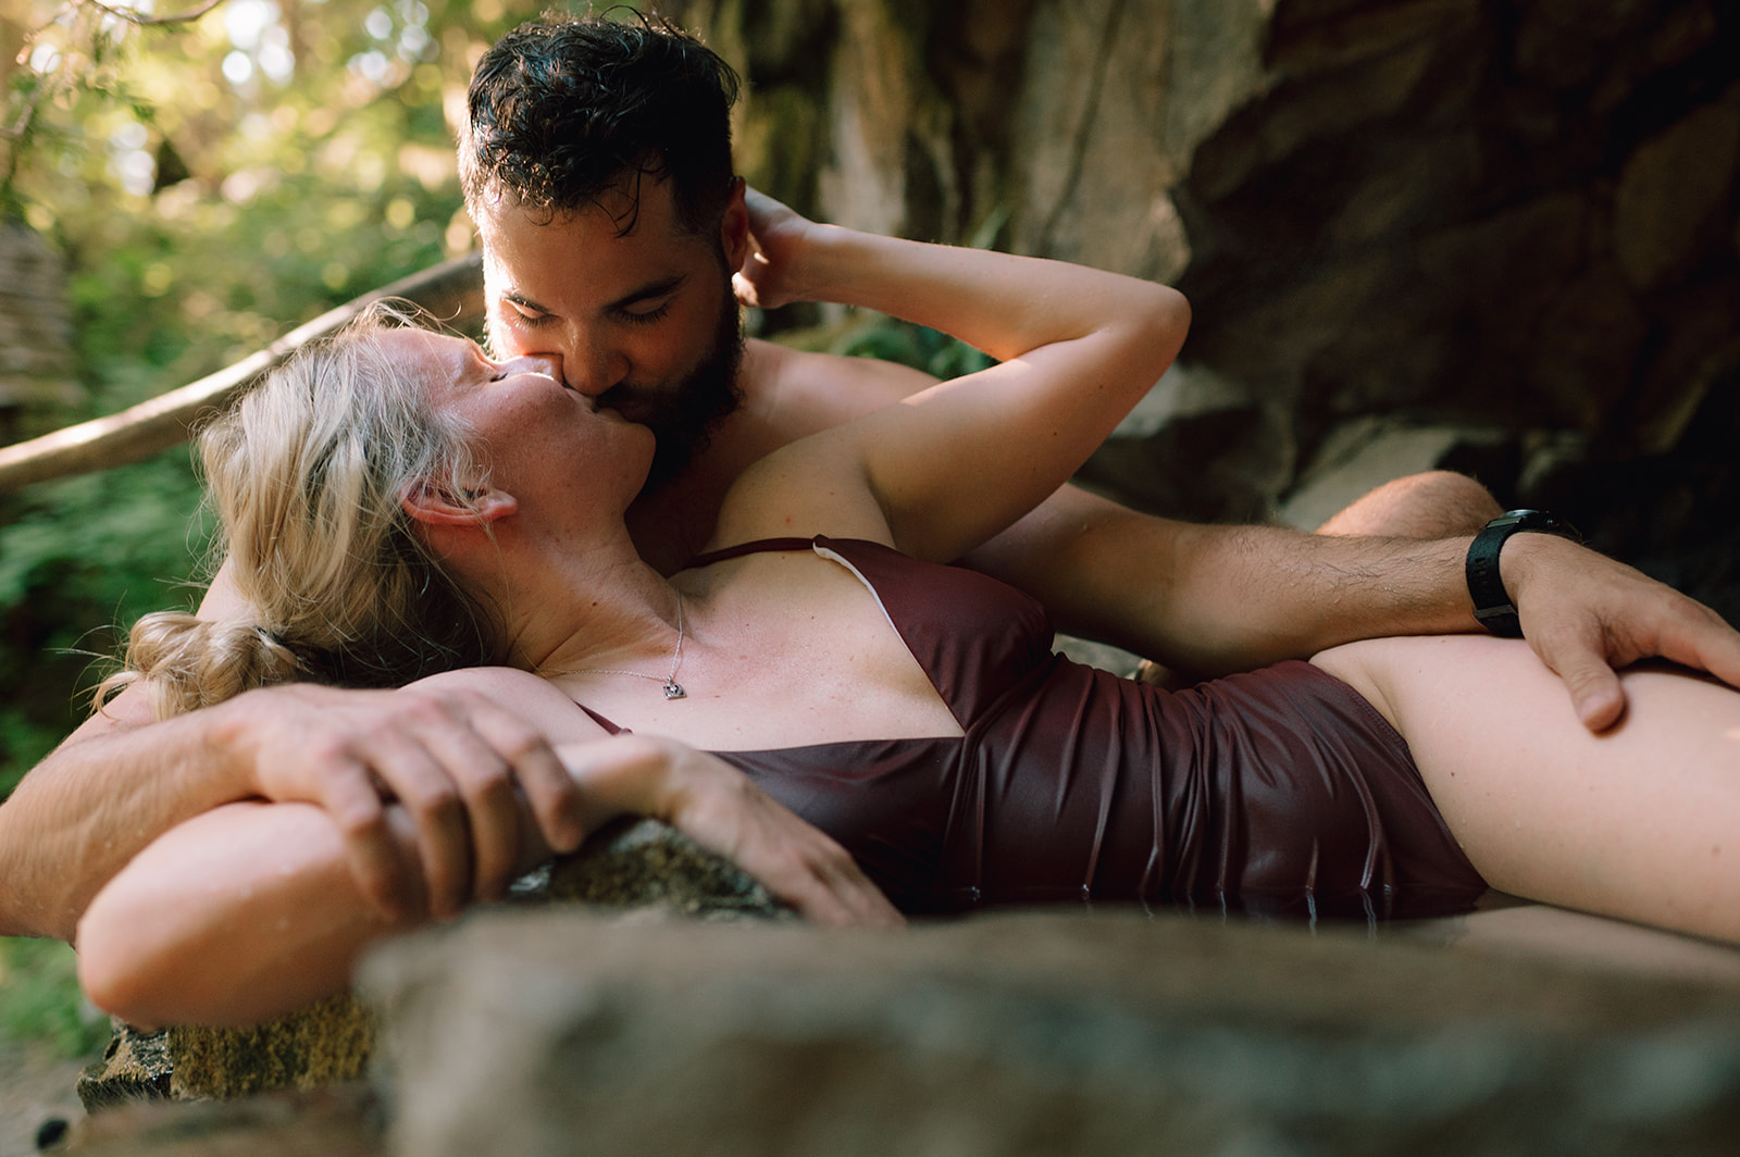
[(647, 388), (621, 383), (599, 395), (599, 405), (652, 431), (656, 445), (644, 492), (652, 492), (687, 470), (706, 449), (713, 428), (743, 404), (738, 367), (743, 364), (743, 317), (738, 299), (726, 287), (719, 324), (706, 357), (677, 385)]

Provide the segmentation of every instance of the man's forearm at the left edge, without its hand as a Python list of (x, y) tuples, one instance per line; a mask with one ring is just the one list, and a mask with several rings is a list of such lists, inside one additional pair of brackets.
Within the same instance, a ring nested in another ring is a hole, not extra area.
[(144, 724), (136, 706), (87, 720), (0, 804), (0, 934), (71, 941), (92, 896), (146, 844), (249, 793), (223, 719)]

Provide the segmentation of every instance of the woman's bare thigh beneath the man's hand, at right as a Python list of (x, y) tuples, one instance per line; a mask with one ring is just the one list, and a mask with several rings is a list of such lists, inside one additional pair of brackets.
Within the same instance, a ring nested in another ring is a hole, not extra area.
[(1634, 668), (1597, 736), (1522, 642), (1378, 639), (1314, 663), (1402, 732), (1493, 887), (1740, 941), (1740, 692)]

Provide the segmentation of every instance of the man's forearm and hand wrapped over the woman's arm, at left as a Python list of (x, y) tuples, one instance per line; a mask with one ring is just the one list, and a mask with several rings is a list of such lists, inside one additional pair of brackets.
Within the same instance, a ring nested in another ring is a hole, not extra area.
[[(548, 846), (583, 835), (578, 788), (546, 738), (478, 694), (285, 684), (151, 722), (144, 689), (129, 687), (0, 806), (0, 934), (71, 940), (148, 844), (245, 799), (325, 811), (390, 919), (425, 889), (444, 917), (499, 896), (524, 844), (522, 802)], [(419, 880), (388, 830), (393, 800), (416, 830)]]

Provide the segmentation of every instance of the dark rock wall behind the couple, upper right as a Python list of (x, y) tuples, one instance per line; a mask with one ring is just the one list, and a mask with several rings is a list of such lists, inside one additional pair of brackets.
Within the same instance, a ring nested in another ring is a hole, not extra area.
[(743, 70), (741, 167), (792, 204), (1190, 296), (1188, 388), (1089, 482), (1270, 518), (1411, 438), (1376, 459), (1552, 503), (1740, 618), (1733, 5), (670, 7)]

